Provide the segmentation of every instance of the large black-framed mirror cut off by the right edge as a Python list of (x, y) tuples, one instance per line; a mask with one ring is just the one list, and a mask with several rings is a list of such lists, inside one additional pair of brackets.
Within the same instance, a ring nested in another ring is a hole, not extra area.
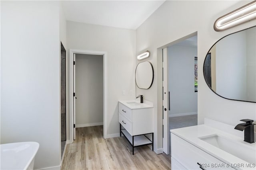
[(256, 26), (218, 40), (206, 54), (203, 72), (218, 96), (256, 103)]

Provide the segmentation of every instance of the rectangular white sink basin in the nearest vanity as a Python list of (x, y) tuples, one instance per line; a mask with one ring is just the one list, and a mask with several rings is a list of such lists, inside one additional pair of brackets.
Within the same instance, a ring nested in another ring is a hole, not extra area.
[(246, 162), (256, 163), (255, 148), (238, 141), (232, 141), (220, 135), (211, 135), (207, 137), (199, 137), (199, 139), (222, 149)]

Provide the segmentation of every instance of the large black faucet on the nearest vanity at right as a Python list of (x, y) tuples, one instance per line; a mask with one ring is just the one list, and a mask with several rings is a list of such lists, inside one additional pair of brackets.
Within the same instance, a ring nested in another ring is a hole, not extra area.
[(245, 123), (240, 123), (236, 125), (235, 129), (239, 131), (244, 130), (244, 141), (248, 143), (254, 143), (254, 123), (251, 119), (242, 119), (240, 121), (245, 121)]

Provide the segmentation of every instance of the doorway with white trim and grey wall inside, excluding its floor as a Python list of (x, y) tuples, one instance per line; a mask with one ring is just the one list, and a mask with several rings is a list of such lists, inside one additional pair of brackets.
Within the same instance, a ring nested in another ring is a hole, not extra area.
[(106, 138), (106, 57), (104, 51), (70, 49), (70, 143), (78, 127), (103, 125)]

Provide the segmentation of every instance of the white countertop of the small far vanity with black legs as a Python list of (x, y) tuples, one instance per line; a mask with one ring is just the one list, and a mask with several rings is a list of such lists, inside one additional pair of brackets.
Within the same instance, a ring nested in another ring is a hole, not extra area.
[(140, 103), (139, 100), (121, 100), (119, 102), (132, 110), (153, 108), (153, 103), (147, 100), (144, 100), (144, 103)]

